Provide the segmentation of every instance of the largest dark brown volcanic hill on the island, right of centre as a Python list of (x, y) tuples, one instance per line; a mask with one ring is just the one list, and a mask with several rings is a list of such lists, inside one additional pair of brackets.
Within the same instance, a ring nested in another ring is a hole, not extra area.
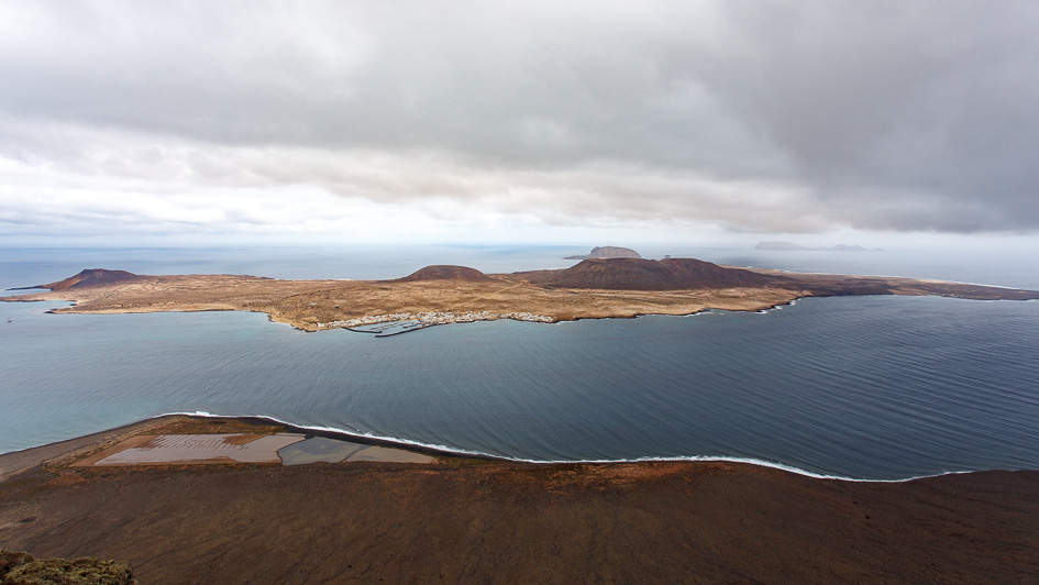
[(586, 260), (571, 268), (534, 274), (531, 278), (549, 286), (622, 290), (782, 286), (786, 280), (696, 258)]

